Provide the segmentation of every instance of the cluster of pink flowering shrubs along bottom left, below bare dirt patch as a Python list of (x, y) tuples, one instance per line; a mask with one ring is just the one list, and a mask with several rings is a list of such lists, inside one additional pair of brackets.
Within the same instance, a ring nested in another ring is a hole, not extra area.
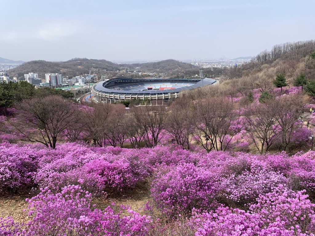
[[(1, 235), (119, 235), (144, 236), (150, 228), (150, 216), (141, 216), (128, 207), (115, 212), (111, 207), (104, 211), (90, 209), (91, 194), (79, 186), (67, 186), (58, 194), (42, 189), (42, 192), (26, 199), (29, 202), (31, 220), (20, 225), (10, 217), (0, 218)], [(21, 229), (23, 226), (23, 230)]]

